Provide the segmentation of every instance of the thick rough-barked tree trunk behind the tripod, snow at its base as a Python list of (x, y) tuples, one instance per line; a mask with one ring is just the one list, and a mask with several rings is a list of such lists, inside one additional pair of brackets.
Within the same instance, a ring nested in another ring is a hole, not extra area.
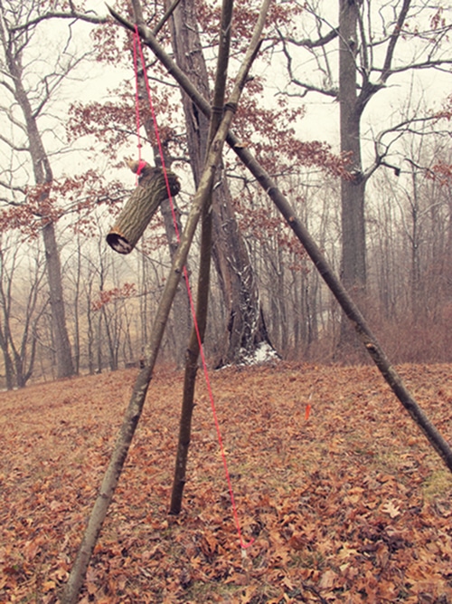
[[(209, 79), (198, 34), (193, 0), (182, 0), (172, 19), (172, 42), (176, 62), (205, 99), (210, 99)], [(187, 145), (197, 186), (202, 174), (209, 120), (183, 92)], [(226, 305), (227, 324), (223, 332), (217, 367), (235, 363), (268, 341), (259, 292), (248, 250), (235, 219), (231, 193), (221, 180), (215, 187), (212, 205), (212, 256), (219, 274)]]

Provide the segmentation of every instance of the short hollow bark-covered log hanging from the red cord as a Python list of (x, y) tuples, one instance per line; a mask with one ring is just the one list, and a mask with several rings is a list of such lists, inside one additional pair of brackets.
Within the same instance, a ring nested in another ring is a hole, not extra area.
[[(162, 168), (153, 168), (144, 160), (127, 160), (127, 166), (139, 177), (137, 187), (107, 235), (108, 245), (118, 254), (130, 254), (158, 206), (169, 197)], [(166, 176), (174, 197), (181, 190), (181, 185), (173, 172), (167, 172)]]

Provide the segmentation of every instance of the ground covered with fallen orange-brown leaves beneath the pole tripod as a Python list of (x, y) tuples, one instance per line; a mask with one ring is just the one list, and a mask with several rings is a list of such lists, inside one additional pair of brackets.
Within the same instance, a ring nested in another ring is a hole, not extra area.
[[(451, 367), (400, 372), (451, 442)], [(58, 601), (135, 375), (1, 394), (1, 603)], [(240, 551), (201, 376), (184, 512), (168, 516), (182, 374), (160, 369), (83, 603), (452, 603), (452, 478), (376, 369), (278, 363), (211, 379), (255, 541)]]

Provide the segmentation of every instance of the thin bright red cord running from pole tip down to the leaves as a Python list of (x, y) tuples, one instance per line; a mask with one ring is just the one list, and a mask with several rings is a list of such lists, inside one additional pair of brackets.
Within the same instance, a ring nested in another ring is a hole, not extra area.
[[(162, 148), (162, 143), (160, 140), (160, 134), (158, 131), (158, 125), (157, 125), (157, 120), (155, 118), (155, 111), (154, 111), (154, 105), (152, 102), (152, 94), (151, 94), (151, 89), (149, 87), (149, 81), (147, 80), (147, 73), (146, 73), (146, 62), (145, 62), (145, 57), (143, 55), (143, 49), (141, 46), (141, 42), (140, 42), (140, 38), (139, 38), (139, 34), (138, 34), (138, 28), (137, 25), (135, 25), (135, 34), (134, 34), (134, 67), (135, 67), (135, 76), (136, 76), (136, 82), (137, 82), (137, 94), (136, 94), (136, 110), (137, 110), (137, 129), (139, 130), (139, 106), (138, 106), (138, 68), (137, 68), (137, 61), (136, 61), (136, 54), (137, 54), (137, 50), (139, 53), (139, 58), (141, 60), (141, 65), (143, 68), (143, 73), (144, 73), (144, 77), (145, 77), (145, 83), (146, 83), (146, 92), (147, 92), (147, 98), (149, 100), (149, 107), (151, 110), (151, 114), (152, 114), (152, 120), (154, 122), (154, 129), (155, 129), (155, 139), (157, 141), (157, 147), (158, 147), (158, 151), (160, 154), (160, 158), (162, 160), (162, 168), (164, 171), (164, 175), (165, 175), (165, 183), (166, 183), (166, 189), (168, 192), (168, 198), (169, 198), (169, 202), (170, 202), (170, 206), (171, 206), (171, 213), (173, 216), (173, 222), (174, 222), (174, 230), (175, 230), (175, 235), (177, 238), (177, 241), (180, 241), (180, 234), (179, 234), (179, 229), (177, 226), (177, 220), (176, 220), (176, 216), (175, 216), (175, 211), (174, 211), (174, 203), (173, 203), (173, 197), (171, 195), (171, 189), (170, 189), (170, 185), (169, 185), (169, 181), (168, 181), (168, 176), (166, 173), (166, 167), (165, 167), (165, 157), (164, 157), (164, 153), (163, 153), (163, 148)], [(139, 141), (139, 131), (138, 131), (138, 141)], [(139, 158), (141, 160), (141, 145), (138, 144), (138, 149), (140, 151), (140, 155)], [(190, 283), (189, 283), (189, 279), (188, 279), (188, 272), (186, 270), (186, 268), (184, 267), (184, 279), (185, 279), (185, 283), (186, 283), (186, 288), (187, 288), (187, 293), (188, 293), (188, 299), (190, 302), (190, 309), (192, 312), (192, 317), (193, 317), (193, 325), (194, 325), (194, 330), (196, 331), (196, 336), (198, 339), (198, 344), (199, 344), (199, 350), (200, 350), (200, 356), (201, 356), (201, 361), (202, 361), (202, 369), (204, 372), (204, 379), (205, 379), (205, 383), (207, 386), (207, 391), (209, 393), (209, 398), (211, 401), (211, 407), (212, 407), (212, 416), (213, 416), (213, 421), (215, 423), (215, 428), (217, 431), (217, 438), (218, 438), (218, 444), (220, 446), (220, 451), (221, 451), (221, 459), (223, 462), (223, 467), (224, 467), (224, 474), (226, 475), (226, 481), (228, 483), (228, 488), (229, 488), (229, 493), (231, 496), (231, 507), (232, 507), (232, 513), (234, 516), (234, 521), (235, 521), (235, 525), (236, 525), (236, 529), (237, 529), (237, 534), (239, 536), (239, 541), (240, 541), (240, 547), (242, 548), (242, 550), (246, 550), (247, 548), (250, 547), (250, 545), (254, 542), (254, 539), (251, 539), (250, 542), (244, 542), (243, 541), (243, 537), (240, 531), (240, 522), (239, 522), (239, 513), (237, 511), (237, 505), (235, 503), (235, 498), (234, 498), (234, 493), (232, 490), (232, 483), (231, 483), (231, 475), (228, 469), (228, 464), (226, 461), (226, 454), (224, 451), (224, 446), (222, 443), (222, 438), (221, 438), (221, 429), (220, 429), (220, 423), (218, 421), (218, 416), (217, 416), (217, 411), (216, 411), (216, 407), (215, 407), (215, 401), (213, 398), (213, 392), (212, 392), (212, 385), (211, 385), (211, 380), (209, 377), (209, 371), (207, 369), (207, 363), (204, 357), (204, 349), (202, 346), (202, 340), (201, 340), (201, 335), (199, 332), (199, 328), (198, 328), (198, 321), (196, 320), (196, 312), (194, 309), (194, 303), (193, 303), (193, 295), (192, 295), (192, 290), (190, 287)]]

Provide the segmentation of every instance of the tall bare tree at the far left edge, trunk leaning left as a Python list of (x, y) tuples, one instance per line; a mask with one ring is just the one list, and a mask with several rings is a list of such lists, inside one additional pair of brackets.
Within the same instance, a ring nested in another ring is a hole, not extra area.
[[(12, 206), (28, 206), (26, 214), (35, 216), (37, 227), (41, 230), (52, 308), (57, 375), (62, 378), (71, 376), (74, 368), (66, 327), (60, 253), (55, 235), (58, 211), (51, 200), (53, 173), (42, 138), (40, 119), (44, 118), (53, 93), (80, 59), (63, 53), (57, 56), (52, 71), (42, 72), (37, 76), (35, 70), (39, 72), (40, 68), (36, 67), (35, 62), (29, 62), (27, 51), (34, 42), (38, 23), (36, 18), (41, 6), (41, 3), (24, 5), (14, 0), (2, 0), (0, 3), (0, 40), (3, 53), (0, 83), (5, 91), (5, 104), (1, 110), (9, 120), (11, 130), (14, 130), (11, 137), (1, 137), (1, 141), (11, 150), (14, 160), (11, 161), (9, 176), (4, 173), (0, 185), (5, 192), (3, 200)], [(39, 81), (36, 81), (36, 76)], [(24, 155), (28, 158), (24, 159)], [(27, 187), (28, 162), (32, 166), (33, 189)], [(16, 184), (17, 173), (25, 184)], [(18, 197), (22, 198), (18, 201)]]

